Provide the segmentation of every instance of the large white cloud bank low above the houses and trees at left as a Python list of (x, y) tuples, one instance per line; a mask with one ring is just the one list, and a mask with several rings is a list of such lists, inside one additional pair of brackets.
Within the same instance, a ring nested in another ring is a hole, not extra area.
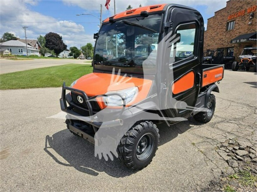
[[(80, 47), (87, 42), (94, 44), (93, 35), (86, 35), (81, 24), (70, 20), (57, 20), (51, 16), (31, 11), (26, 5), (35, 5), (38, 0), (9, 1), (1, 0), (0, 8), (0, 29), (1, 35), (4, 32), (11, 32), (19, 38), (25, 38), (23, 26), (27, 26), (26, 34), (29, 39), (37, 39), (48, 32), (55, 32), (62, 36), (67, 47)], [(17, 10), (17, 11), (7, 11)]]

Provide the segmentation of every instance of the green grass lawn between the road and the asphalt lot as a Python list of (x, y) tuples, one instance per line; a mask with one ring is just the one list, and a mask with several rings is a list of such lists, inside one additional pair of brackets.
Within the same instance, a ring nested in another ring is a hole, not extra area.
[(0, 89), (27, 89), (69, 86), (79, 77), (92, 73), (91, 65), (67, 64), (0, 75)]

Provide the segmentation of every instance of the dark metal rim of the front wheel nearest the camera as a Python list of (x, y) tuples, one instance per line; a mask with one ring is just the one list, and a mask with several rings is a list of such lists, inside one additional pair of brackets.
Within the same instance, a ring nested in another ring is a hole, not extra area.
[(154, 136), (152, 133), (145, 133), (136, 144), (136, 158), (140, 161), (146, 160), (153, 151)]

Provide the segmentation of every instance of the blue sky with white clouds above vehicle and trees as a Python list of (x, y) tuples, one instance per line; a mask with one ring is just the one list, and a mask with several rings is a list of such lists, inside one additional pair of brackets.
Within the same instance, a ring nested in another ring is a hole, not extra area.
[[(133, 8), (140, 5), (159, 3), (177, 3), (194, 7), (202, 14), (207, 24), (207, 18), (214, 12), (226, 6), (227, 0), (116, 0), (116, 12), (125, 11), (130, 4)], [(128, 2), (128, 3), (127, 3)], [(68, 48), (80, 48), (87, 43), (94, 44), (93, 33), (99, 30), (100, 4), (103, 5), (103, 20), (114, 14), (113, 0), (109, 11), (105, 8), (105, 0), (1, 0), (0, 36), (11, 32), (19, 38), (25, 38), (23, 26), (27, 26), (27, 38), (36, 39), (40, 34), (56, 32), (63, 37)]]

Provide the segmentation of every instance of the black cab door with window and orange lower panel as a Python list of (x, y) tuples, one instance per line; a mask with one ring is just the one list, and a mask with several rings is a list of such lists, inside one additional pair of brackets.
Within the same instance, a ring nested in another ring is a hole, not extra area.
[[(197, 11), (172, 8), (165, 29), (162, 108), (167, 117), (188, 117), (200, 90), (203, 51), (202, 16)], [(164, 99), (165, 98), (165, 99)]]

